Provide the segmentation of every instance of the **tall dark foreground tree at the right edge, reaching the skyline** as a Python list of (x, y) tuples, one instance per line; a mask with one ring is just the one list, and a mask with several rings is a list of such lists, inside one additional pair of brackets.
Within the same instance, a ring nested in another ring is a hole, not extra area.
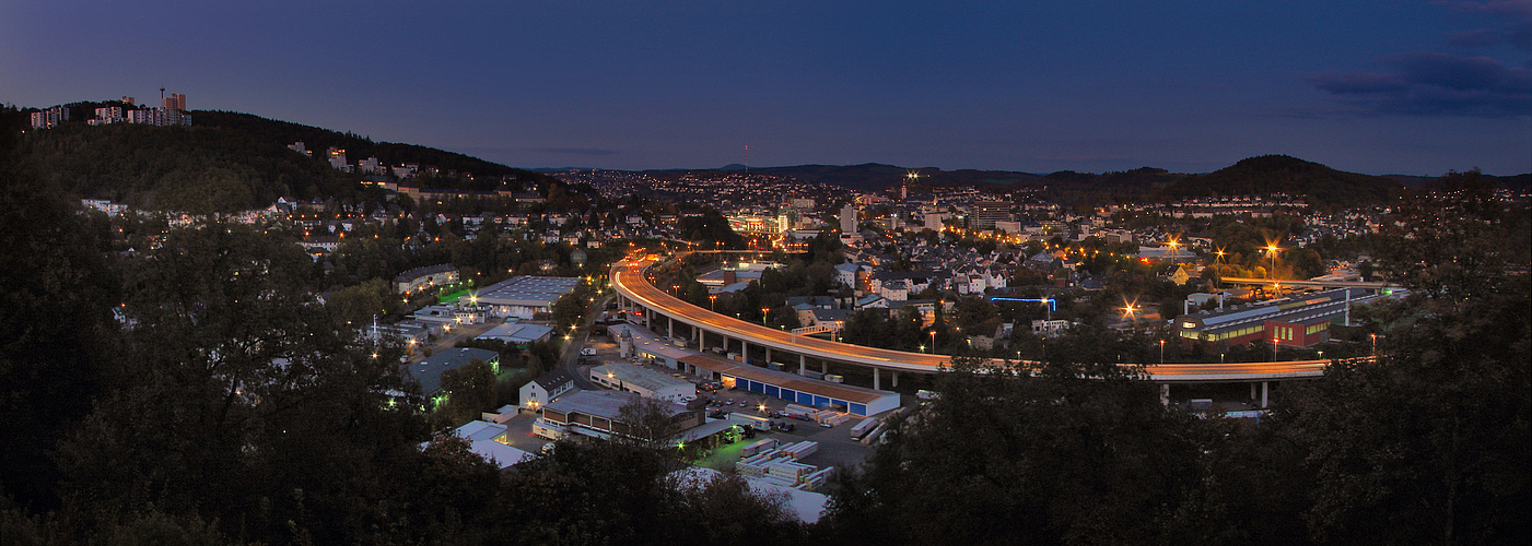
[(1279, 414), (1318, 540), (1517, 541), (1532, 511), (1527, 216), (1478, 173), (1400, 206), (1383, 268), (1411, 289), (1373, 317), (1377, 361), (1336, 361)]

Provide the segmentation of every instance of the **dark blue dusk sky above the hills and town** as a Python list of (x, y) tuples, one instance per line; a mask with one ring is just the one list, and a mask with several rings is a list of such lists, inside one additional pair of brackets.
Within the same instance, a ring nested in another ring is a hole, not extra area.
[(1532, 171), (1532, 0), (0, 3), (3, 102), (516, 167)]

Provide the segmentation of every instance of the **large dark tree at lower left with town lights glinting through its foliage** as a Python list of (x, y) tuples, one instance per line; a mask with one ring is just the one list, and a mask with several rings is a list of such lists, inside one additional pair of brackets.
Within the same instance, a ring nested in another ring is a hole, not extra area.
[(296, 245), (207, 223), (146, 254), (124, 266), (113, 388), (58, 447), (61, 491), (267, 541), (388, 523), (378, 502), (424, 431), (389, 395), (408, 392), (398, 347), (337, 329)]

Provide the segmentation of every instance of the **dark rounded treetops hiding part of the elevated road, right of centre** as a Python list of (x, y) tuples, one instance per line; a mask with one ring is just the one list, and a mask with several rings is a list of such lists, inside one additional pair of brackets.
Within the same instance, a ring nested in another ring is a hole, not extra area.
[[(1054, 355), (1054, 352), (1049, 352)], [(830, 522), (864, 541), (1146, 541), (1200, 459), (1192, 419), (1111, 362), (954, 358), (941, 399), (885, 433)]]

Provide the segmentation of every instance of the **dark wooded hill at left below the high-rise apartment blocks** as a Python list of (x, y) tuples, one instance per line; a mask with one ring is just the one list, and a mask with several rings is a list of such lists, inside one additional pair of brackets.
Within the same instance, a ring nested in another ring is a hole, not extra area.
[[(15, 110), (9, 112), (18, 113)], [(25, 112), (20, 112), (25, 115)], [(371, 139), (265, 119), (248, 113), (192, 112), (190, 127), (87, 125), (67, 122), (20, 136), (20, 164), (77, 197), (110, 199), (141, 208), (231, 213), (271, 205), (279, 196), (355, 199), (360, 173), (331, 168), (325, 151), (348, 159), (375, 156), (383, 165), (420, 164), (441, 170), (421, 176), (426, 188), (513, 190), (527, 182), (547, 188), (553, 177), (460, 153)], [(311, 156), (288, 150), (302, 141)], [(457, 176), (447, 176), (452, 170)]]

